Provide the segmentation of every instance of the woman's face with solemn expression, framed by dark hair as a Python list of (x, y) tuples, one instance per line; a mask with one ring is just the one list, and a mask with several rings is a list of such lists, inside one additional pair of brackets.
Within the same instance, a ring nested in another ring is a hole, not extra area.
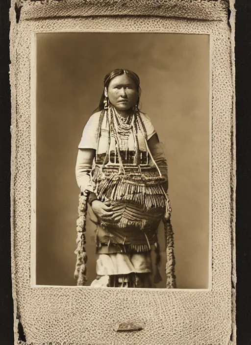
[(108, 98), (116, 110), (126, 111), (137, 104), (139, 92), (136, 83), (127, 74), (118, 75), (108, 85)]

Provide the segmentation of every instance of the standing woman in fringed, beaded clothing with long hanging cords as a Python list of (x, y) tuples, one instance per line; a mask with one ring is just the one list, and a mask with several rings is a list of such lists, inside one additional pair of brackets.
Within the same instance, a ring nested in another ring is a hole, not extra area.
[(175, 287), (173, 233), (167, 196), (167, 162), (150, 118), (139, 111), (140, 80), (117, 69), (104, 78), (98, 109), (78, 146), (76, 180), (80, 188), (77, 222), (78, 285), (86, 282), (87, 203), (97, 224), (97, 279), (93, 287), (152, 288), (151, 253), (160, 255), (157, 227), (165, 220), (168, 246), (167, 287)]

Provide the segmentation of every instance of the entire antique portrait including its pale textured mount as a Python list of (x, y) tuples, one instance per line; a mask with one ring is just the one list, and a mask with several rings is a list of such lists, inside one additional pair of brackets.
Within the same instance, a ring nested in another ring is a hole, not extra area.
[(14, 2), (16, 344), (235, 345), (233, 4)]

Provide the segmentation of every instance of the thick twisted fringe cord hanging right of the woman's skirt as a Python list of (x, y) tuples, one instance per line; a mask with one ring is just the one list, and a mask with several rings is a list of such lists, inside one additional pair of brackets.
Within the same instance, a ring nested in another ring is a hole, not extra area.
[(175, 254), (174, 254), (174, 232), (171, 224), (170, 214), (165, 216), (163, 219), (165, 237), (166, 237), (166, 252), (167, 252), (167, 263), (166, 263), (166, 276), (167, 276), (167, 288), (176, 288), (176, 275), (175, 275)]

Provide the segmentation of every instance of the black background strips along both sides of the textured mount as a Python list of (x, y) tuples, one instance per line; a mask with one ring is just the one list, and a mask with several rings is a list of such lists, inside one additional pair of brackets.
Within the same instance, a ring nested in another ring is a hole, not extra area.
[[(13, 345), (10, 264), (9, 6), (0, 0), (0, 344)], [(236, 0), (237, 345), (251, 344), (251, 0)], [(178, 344), (177, 344), (178, 345)]]

